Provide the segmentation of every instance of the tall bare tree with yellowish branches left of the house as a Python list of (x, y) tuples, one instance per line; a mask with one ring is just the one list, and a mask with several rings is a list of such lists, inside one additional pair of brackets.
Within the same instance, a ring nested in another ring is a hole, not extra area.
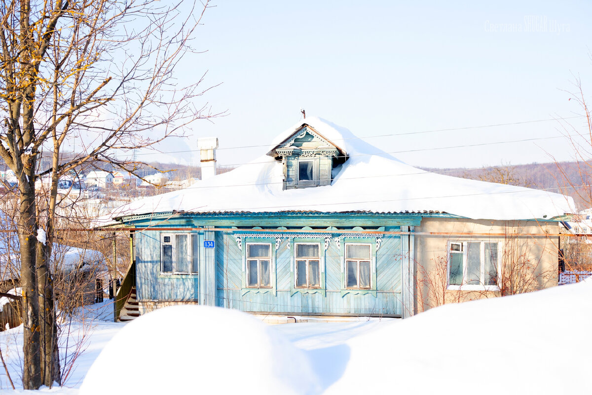
[[(131, 150), (179, 136), (213, 116), (179, 86), (173, 69), (208, 7), (194, 12), (152, 0), (14, 0), (0, 9), (0, 157), (18, 180), (25, 389), (59, 382), (52, 273), (60, 176), (111, 163), (133, 172)], [(149, 137), (151, 136), (151, 137)], [(63, 160), (76, 139), (78, 152)], [(38, 171), (43, 152), (50, 169)], [(131, 154), (130, 154), (131, 156)], [(124, 158), (124, 159), (122, 159)], [(39, 200), (38, 177), (49, 176)]]

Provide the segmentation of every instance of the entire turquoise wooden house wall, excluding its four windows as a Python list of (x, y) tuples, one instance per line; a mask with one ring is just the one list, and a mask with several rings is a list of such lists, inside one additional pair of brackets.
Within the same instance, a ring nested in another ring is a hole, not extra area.
[[(420, 219), (418, 219), (419, 221)], [(137, 224), (138, 225), (138, 224)], [(160, 226), (211, 227), (199, 218), (187, 221), (168, 221)], [(229, 227), (228, 223), (221, 224)], [(400, 230), (400, 226), (386, 230)], [(273, 233), (273, 229), (266, 232)], [(166, 231), (178, 233), (181, 231)], [(275, 237), (250, 239), (243, 237), (242, 249), (236, 241), (237, 232), (196, 232), (200, 235), (200, 272), (196, 275), (170, 275), (160, 273), (160, 231), (157, 227), (135, 233), (136, 245), (136, 287), (140, 301), (198, 301), (200, 304), (228, 307), (242, 311), (270, 314), (328, 314), (328, 315), (373, 315), (400, 316), (403, 313), (401, 296), (402, 249), (400, 235), (383, 235), (378, 251), (375, 237), (343, 237), (337, 246), (331, 237), (329, 248), (324, 249), (324, 239), (294, 239), (282, 237), (275, 251)], [(407, 236), (403, 236), (407, 237)], [(215, 249), (204, 249), (204, 240), (215, 240)], [(250, 241), (269, 242), (275, 258), (274, 288), (248, 289), (244, 283), (245, 243)], [(325, 269), (323, 290), (295, 290), (292, 258), (294, 240), (321, 243), (321, 259)], [(290, 243), (292, 242), (292, 249)], [(372, 246), (375, 263), (373, 291), (349, 291), (344, 288), (343, 250), (346, 242), (368, 242)]]

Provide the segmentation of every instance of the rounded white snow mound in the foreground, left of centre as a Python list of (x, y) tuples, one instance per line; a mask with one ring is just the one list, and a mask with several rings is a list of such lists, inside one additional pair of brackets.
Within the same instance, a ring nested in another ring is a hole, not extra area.
[[(113, 365), (117, 363), (117, 383)], [(111, 367), (111, 368), (110, 368)], [(89, 369), (81, 395), (315, 394), (303, 351), (249, 314), (172, 306), (128, 323)]]

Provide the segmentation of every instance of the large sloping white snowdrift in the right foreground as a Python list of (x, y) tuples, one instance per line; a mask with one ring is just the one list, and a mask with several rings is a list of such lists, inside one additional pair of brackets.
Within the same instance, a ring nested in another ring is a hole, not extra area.
[(448, 304), (349, 341), (325, 394), (590, 394), (591, 330), (592, 279)]

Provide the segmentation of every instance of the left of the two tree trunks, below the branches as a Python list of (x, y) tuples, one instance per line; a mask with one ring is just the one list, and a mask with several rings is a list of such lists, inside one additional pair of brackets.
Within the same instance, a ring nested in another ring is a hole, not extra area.
[(39, 300), (37, 297), (35, 185), (33, 174), (20, 182), (18, 239), (21, 249), (22, 324), (24, 356), (22, 386), (37, 390), (41, 386)]

